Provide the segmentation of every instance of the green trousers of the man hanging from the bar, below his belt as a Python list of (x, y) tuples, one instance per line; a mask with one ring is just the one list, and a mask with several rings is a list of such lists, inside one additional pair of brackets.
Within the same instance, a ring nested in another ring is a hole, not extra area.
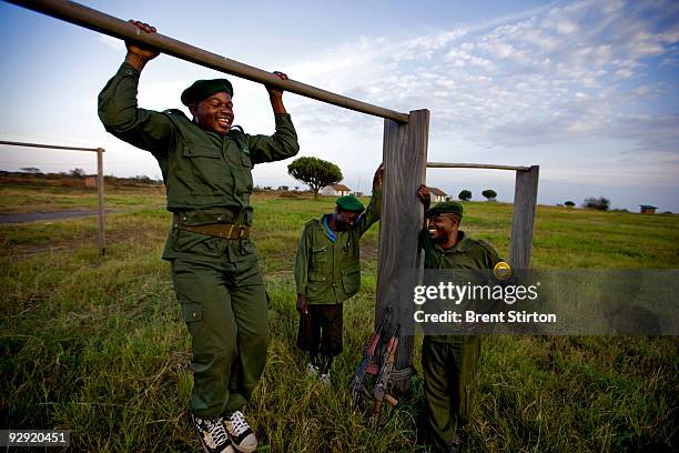
[(183, 254), (171, 261), (192, 340), (190, 409), (201, 419), (227, 415), (250, 401), (268, 344), (266, 291), (254, 248), (214, 239), (230, 242), (221, 259)]

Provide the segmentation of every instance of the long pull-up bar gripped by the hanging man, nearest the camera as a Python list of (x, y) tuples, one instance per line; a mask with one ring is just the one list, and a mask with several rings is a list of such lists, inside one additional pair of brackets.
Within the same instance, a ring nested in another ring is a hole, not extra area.
[(251, 80), (285, 91), (315, 99), (317, 101), (327, 102), (345, 109), (355, 110), (375, 117), (382, 117), (397, 121), (399, 123), (408, 122), (408, 114), (396, 112), (394, 110), (384, 109), (373, 105), (367, 102), (347, 98), (333, 93), (331, 91), (321, 90), (305, 83), (294, 80), (281, 80), (271, 72), (241, 63), (235, 60), (227, 59), (216, 53), (196, 48), (182, 41), (178, 41), (170, 37), (160, 33), (143, 33), (135, 26), (114, 18), (94, 9), (82, 4), (64, 1), (64, 0), (6, 0), (9, 3), (14, 3), (30, 10), (51, 16), (57, 19), (64, 20), (77, 26), (84, 27), (100, 33), (108, 34), (113, 38), (123, 40), (134, 40), (144, 44), (151, 46), (163, 53), (201, 64), (216, 71), (225, 72), (243, 79)]

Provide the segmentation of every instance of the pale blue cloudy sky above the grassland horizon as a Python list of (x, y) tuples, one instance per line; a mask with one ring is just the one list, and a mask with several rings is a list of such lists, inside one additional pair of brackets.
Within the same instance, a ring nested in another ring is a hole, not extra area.
[[(539, 164), (539, 202), (607, 197), (614, 208), (679, 212), (679, 2), (200, 2), (84, 1), (212, 52), (398, 111), (432, 112), (429, 161)], [(108, 135), (97, 94), (122, 42), (0, 3), (0, 138), (103, 147), (104, 169), (160, 178), (152, 157)], [(161, 56), (142, 74), (140, 104), (181, 107), (204, 68)], [(236, 123), (273, 131), (263, 87), (232, 79)], [(285, 102), (301, 154), (342, 168), (367, 191), (383, 120), (295, 94)], [(260, 185), (300, 185), (286, 162), (259, 165)], [(0, 147), (0, 169), (93, 172), (94, 155)], [(456, 195), (495, 189), (510, 172), (429, 170)]]

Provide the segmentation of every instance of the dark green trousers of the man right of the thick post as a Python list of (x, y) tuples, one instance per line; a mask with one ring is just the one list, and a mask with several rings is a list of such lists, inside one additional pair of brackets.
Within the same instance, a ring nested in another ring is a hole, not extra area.
[(479, 336), (425, 336), (425, 420), (432, 443), (447, 449), (472, 417), (478, 378)]

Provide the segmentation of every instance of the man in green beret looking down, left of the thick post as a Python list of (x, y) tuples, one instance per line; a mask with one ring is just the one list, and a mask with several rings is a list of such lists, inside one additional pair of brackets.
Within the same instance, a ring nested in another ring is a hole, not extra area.
[[(361, 288), (361, 236), (379, 220), (382, 174), (373, 179), (373, 197), (365, 213), (352, 195), (337, 199), (335, 212), (304, 225), (295, 261), (300, 330), (297, 346), (307, 351), (307, 371), (331, 385), (333, 358), (342, 352), (343, 302)], [(318, 358), (321, 354), (321, 358)]]

